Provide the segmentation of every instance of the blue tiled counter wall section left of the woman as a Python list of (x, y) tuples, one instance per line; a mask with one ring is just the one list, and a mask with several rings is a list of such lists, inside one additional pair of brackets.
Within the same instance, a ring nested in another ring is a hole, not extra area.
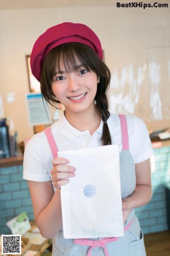
[(31, 197), (26, 180), (23, 180), (23, 166), (0, 168), (0, 234), (10, 234), (5, 225), (8, 220), (22, 212), (33, 219)]

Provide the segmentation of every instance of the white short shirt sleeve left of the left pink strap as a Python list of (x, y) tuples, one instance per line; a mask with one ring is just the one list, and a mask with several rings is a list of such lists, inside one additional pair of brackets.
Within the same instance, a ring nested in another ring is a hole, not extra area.
[[(34, 135), (24, 151), (23, 179), (32, 181), (49, 181), (49, 168), (44, 159), (44, 150), (40, 147), (40, 135)], [(43, 141), (43, 139), (42, 139)], [(45, 147), (43, 147), (45, 148)], [(48, 162), (48, 161), (47, 161)]]

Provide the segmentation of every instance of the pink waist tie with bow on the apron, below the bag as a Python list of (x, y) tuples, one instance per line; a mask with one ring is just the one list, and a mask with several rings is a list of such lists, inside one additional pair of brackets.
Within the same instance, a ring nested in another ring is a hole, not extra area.
[[(124, 232), (126, 232), (126, 230), (128, 230), (130, 228), (132, 221), (133, 220), (131, 220), (129, 222), (129, 224), (125, 226)], [(114, 242), (114, 241), (117, 241), (117, 240), (118, 240), (118, 237), (104, 237), (104, 238), (101, 238), (99, 240), (88, 240), (88, 239), (82, 238), (82, 239), (74, 239), (74, 243), (76, 245), (90, 246), (90, 249), (88, 250), (87, 256), (91, 256), (91, 250), (94, 249), (97, 246), (103, 247), (105, 256), (109, 256), (108, 251), (107, 251), (107, 247), (105, 246), (105, 244), (106, 243), (111, 243), (111, 242)]]

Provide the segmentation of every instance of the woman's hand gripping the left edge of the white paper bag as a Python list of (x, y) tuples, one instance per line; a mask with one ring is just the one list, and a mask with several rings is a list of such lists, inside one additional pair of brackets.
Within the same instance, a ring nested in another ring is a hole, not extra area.
[(76, 168), (67, 165), (68, 159), (65, 158), (53, 158), (53, 168), (50, 174), (55, 188), (61, 188), (61, 186), (69, 183), (69, 179), (75, 176)]

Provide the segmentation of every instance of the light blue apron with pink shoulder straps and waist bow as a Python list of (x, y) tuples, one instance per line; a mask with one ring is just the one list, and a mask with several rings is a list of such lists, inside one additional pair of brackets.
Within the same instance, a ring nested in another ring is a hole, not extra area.
[[(119, 117), (122, 134), (122, 151), (120, 152), (121, 196), (124, 199), (133, 193), (136, 178), (134, 160), (129, 151), (126, 117), (125, 115), (119, 115)], [(45, 130), (45, 134), (53, 156), (56, 156), (57, 145), (49, 127)], [(65, 239), (61, 229), (53, 239), (52, 256), (146, 256), (143, 233), (134, 209), (131, 210), (124, 228), (124, 237), (111, 238), (110, 240), (100, 237), (95, 240), (89, 239), (87, 242)]]

